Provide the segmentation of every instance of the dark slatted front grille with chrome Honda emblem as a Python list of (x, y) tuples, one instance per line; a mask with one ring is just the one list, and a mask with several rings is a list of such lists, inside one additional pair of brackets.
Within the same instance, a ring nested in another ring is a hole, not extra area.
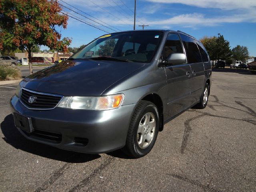
[[(32, 97), (34, 99), (30, 99)], [(60, 95), (40, 93), (25, 88), (21, 89), (20, 101), (29, 109), (53, 109), (62, 99)], [(32, 102), (32, 103), (31, 103)]]

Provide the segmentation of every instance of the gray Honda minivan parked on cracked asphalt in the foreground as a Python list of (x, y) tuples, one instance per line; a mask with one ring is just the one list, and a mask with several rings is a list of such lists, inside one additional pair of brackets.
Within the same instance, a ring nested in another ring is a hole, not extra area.
[(206, 49), (184, 32), (117, 32), (24, 78), (10, 106), (29, 140), (92, 154), (123, 148), (139, 158), (166, 122), (206, 107), (211, 74)]

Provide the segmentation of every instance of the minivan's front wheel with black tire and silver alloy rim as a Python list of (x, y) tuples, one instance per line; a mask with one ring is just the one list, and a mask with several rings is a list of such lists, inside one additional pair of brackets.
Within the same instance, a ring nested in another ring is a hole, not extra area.
[(155, 104), (140, 101), (132, 119), (124, 149), (129, 156), (140, 158), (148, 154), (155, 142), (159, 130), (159, 113)]

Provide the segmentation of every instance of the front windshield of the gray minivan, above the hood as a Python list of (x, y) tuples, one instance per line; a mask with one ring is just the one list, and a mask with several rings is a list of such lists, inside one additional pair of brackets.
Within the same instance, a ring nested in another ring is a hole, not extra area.
[(107, 34), (97, 38), (69, 59), (148, 63), (154, 57), (162, 36), (161, 31)]

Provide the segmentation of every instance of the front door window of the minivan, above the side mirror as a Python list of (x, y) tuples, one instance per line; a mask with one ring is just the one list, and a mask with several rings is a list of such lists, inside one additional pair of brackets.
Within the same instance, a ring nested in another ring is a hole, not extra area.
[(172, 53), (184, 53), (180, 38), (177, 34), (169, 34), (166, 38), (166, 43), (164, 45), (164, 53), (166, 58)]

